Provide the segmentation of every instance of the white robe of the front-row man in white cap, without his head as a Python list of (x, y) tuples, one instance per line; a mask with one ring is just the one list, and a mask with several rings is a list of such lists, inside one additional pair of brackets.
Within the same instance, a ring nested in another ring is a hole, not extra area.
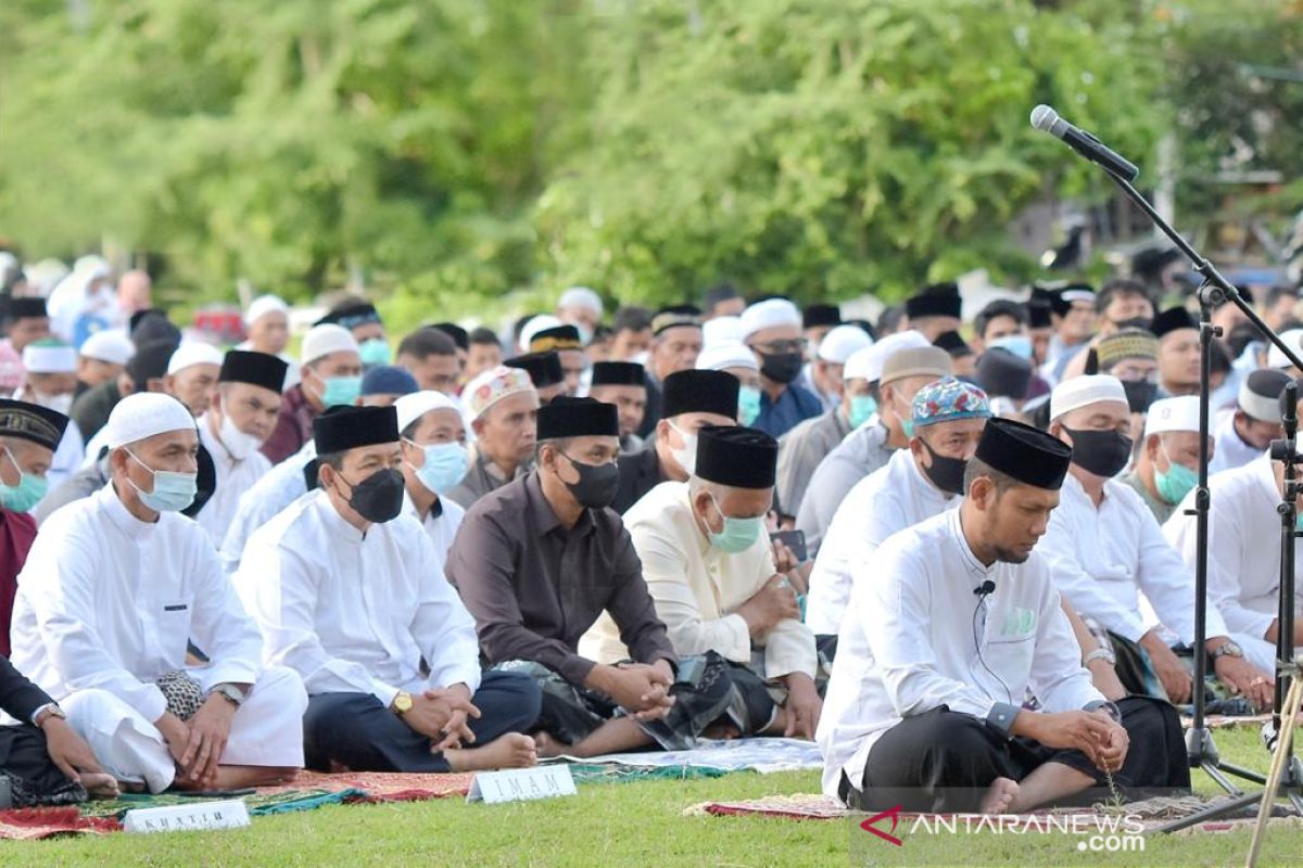
[(113, 485), (51, 515), (18, 576), (13, 662), (68, 711), (106, 770), (158, 793), (176, 766), (154, 721), (167, 711), (152, 683), (186, 669), (186, 642), (211, 662), (192, 675), (207, 690), (250, 683), (223, 764), (304, 764), (302, 683), (262, 671), (258, 627), (194, 522), (126, 511)]

